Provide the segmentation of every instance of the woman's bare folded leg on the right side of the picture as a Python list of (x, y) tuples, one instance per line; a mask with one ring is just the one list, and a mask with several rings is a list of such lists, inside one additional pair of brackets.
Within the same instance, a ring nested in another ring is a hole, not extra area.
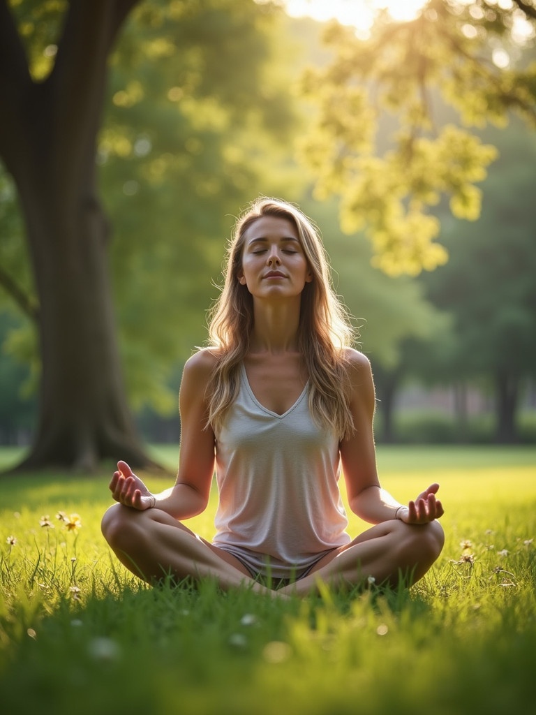
[(397, 586), (402, 576), (410, 586), (432, 566), (444, 541), (438, 521), (422, 526), (399, 520), (384, 521), (364, 531), (347, 546), (324, 556), (308, 576), (280, 592), (306, 596), (318, 591), (318, 580), (340, 588), (364, 584), (369, 577), (377, 584)]

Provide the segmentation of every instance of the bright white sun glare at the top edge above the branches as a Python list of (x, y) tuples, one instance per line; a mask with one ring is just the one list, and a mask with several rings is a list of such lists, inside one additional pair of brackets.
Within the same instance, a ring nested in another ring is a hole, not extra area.
[(387, 9), (392, 19), (403, 21), (413, 19), (424, 4), (425, 0), (286, 0), (289, 15), (307, 15), (319, 21), (337, 19), (358, 31), (369, 30), (380, 9)]

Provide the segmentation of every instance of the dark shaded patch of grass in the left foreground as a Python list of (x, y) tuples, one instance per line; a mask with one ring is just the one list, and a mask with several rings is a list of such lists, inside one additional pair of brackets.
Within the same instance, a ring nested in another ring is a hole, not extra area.
[(82, 714), (217, 705), (212, 689), (225, 689), (237, 666), (245, 675), (259, 638), (280, 638), (288, 613), (282, 601), (224, 594), (209, 582), (198, 591), (137, 581), (109, 593), (109, 584), (94, 588), (98, 596), (62, 598), (51, 612), (22, 604), (4, 623), (5, 712), (42, 711), (44, 703), (57, 713), (76, 703)]

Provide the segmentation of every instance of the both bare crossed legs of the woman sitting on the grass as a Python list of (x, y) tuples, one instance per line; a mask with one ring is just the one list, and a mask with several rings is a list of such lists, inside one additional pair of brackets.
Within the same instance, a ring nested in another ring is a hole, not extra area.
[[(252, 579), (232, 554), (212, 546), (159, 509), (136, 511), (114, 504), (104, 514), (102, 533), (119, 561), (144, 581), (175, 578), (216, 578), (223, 589), (247, 586), (258, 593), (272, 591)], [(277, 594), (305, 596), (317, 591), (318, 580), (333, 588), (354, 586), (374, 578), (396, 586), (418, 581), (440, 555), (444, 536), (440, 523), (412, 526), (392, 520), (364, 531), (347, 546), (334, 549), (314, 569)]]

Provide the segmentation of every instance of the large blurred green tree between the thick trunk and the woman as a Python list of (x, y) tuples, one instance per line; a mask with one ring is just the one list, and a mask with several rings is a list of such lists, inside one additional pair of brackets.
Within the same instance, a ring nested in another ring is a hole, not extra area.
[(112, 56), (99, 138), (128, 393), (162, 415), (177, 413), (180, 368), (206, 337), (234, 216), (284, 187), (277, 167), (295, 120), (272, 31), (284, 16), (237, 0), (202, 6), (184, 5), (173, 24), (140, 6)]

